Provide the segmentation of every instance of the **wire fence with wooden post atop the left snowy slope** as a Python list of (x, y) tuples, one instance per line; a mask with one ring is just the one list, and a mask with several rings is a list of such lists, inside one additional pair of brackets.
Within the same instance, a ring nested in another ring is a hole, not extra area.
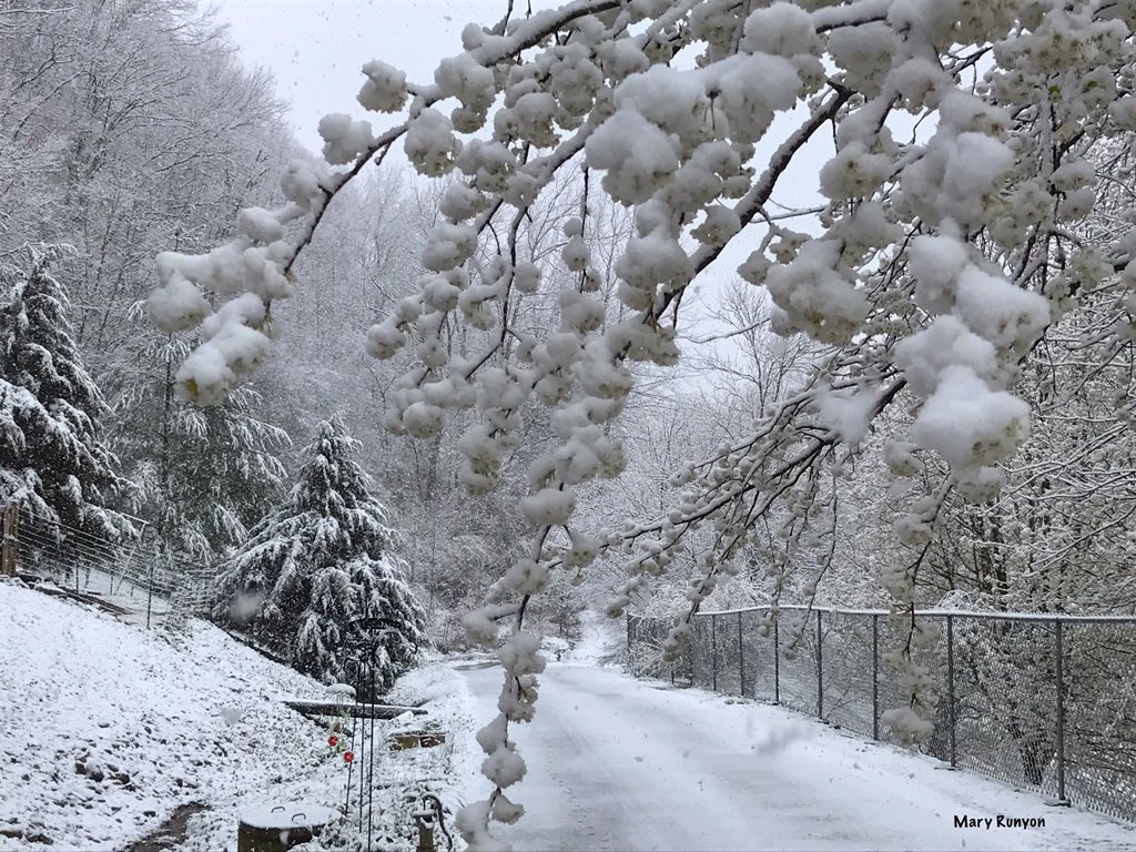
[(210, 566), (147, 546), (110, 540), (19, 507), (5, 512), (5, 553), (15, 574), (49, 583), (128, 620), (177, 626), (204, 615), (212, 601)]

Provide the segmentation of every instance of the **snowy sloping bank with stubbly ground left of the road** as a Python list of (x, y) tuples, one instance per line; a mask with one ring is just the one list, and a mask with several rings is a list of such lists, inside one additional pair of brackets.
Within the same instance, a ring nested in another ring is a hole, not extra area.
[[(178, 849), (217, 852), (235, 849), (248, 807), (341, 805), (345, 767), (327, 732), (281, 703), (324, 695), (208, 624), (167, 638), (0, 583), (0, 850), (49, 841), (122, 850), (177, 807), (201, 802)], [(448, 667), (411, 673), (395, 695), (433, 699), (431, 718), (445, 727), (471, 724)], [(392, 792), (432, 772), (452, 803), (453, 765), (469, 771), (465, 747), (392, 755)]]

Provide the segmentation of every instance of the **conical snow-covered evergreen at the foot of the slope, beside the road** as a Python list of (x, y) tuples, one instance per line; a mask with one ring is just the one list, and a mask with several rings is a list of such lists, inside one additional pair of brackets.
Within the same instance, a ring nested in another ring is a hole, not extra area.
[(368, 641), (361, 619), (384, 630), (376, 688), (385, 690), (424, 642), (425, 617), (402, 579), (390, 513), (354, 460), (359, 442), (341, 417), (316, 427), (287, 500), (261, 520), (223, 567), (218, 620), (243, 627), (300, 671), (359, 678)]

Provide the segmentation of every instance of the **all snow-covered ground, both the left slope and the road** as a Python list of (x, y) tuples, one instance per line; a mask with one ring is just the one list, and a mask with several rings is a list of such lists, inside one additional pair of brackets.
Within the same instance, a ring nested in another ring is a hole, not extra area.
[[(579, 653), (605, 659), (613, 634), (594, 628)], [(513, 733), (531, 766), (515, 797), (529, 812), (500, 830), (518, 849), (1136, 846), (1133, 826), (938, 771), (778, 708), (610, 668), (552, 663), (542, 680), (536, 724)], [(384, 758), (384, 820), (406, 820), (396, 801), (415, 782), (451, 807), (484, 795), (471, 733), (494, 713), (500, 683), (477, 659), (435, 660), (400, 680), (391, 699), (428, 700), (451, 736)], [(201, 802), (178, 849), (217, 852), (235, 847), (250, 807), (337, 807), (344, 763), (327, 732), (281, 703), (324, 694), (203, 623), (169, 640), (0, 583), (0, 850), (45, 850), (47, 840), (122, 850)], [(954, 826), (1000, 815), (1045, 826)]]

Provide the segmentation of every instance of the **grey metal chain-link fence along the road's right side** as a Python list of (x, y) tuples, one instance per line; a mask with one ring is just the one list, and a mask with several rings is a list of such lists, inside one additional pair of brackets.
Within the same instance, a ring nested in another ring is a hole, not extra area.
[[(1136, 617), (920, 612), (942, 632), (912, 652), (935, 733), (920, 749), (1058, 803), (1136, 820)], [(887, 665), (910, 625), (884, 610), (780, 607), (695, 616), (674, 662), (674, 621), (629, 616), (641, 677), (772, 701), (876, 740), (907, 696)]]

